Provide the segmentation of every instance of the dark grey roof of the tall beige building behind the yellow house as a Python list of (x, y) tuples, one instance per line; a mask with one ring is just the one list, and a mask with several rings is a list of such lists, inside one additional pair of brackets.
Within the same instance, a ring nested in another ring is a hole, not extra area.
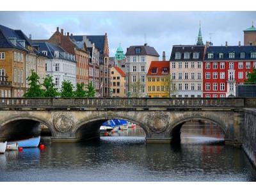
[[(135, 52), (136, 48), (141, 49), (140, 53)], [(129, 55), (150, 55), (150, 56), (159, 57), (159, 54), (157, 53), (156, 49), (154, 47), (148, 46), (147, 44), (130, 46), (129, 48), (127, 48), (127, 51), (125, 53), (125, 56), (129, 56)]]

